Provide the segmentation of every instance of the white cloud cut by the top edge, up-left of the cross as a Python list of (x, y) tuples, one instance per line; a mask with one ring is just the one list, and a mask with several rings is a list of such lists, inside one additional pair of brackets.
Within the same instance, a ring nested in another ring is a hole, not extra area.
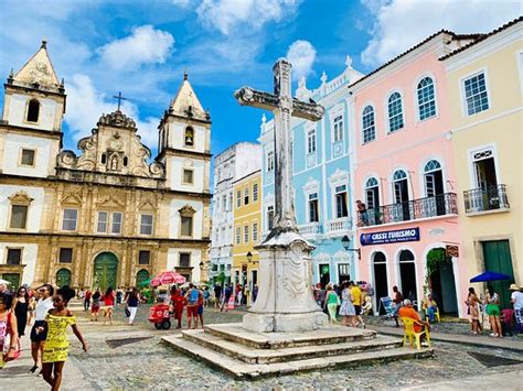
[(198, 7), (199, 20), (225, 35), (244, 29), (259, 30), (265, 23), (279, 21), (296, 11), (301, 0), (203, 0)]

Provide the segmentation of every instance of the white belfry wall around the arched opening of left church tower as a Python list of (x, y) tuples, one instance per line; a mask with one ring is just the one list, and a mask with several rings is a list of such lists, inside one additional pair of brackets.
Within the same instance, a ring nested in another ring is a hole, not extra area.
[(41, 130), (54, 129), (54, 116), (56, 115), (56, 101), (52, 99), (39, 98), (40, 116), (38, 122), (25, 121), (28, 100), (32, 97), (21, 94), (11, 96), (11, 106), (9, 108), (9, 124), (17, 127), (31, 127)]

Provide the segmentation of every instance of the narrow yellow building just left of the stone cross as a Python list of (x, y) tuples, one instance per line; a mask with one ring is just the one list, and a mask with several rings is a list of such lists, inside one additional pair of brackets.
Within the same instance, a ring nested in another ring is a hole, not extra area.
[[(258, 283), (259, 254), (254, 248), (262, 240), (262, 173), (259, 170), (233, 182), (234, 238), (232, 282)], [(248, 295), (249, 297), (249, 295)], [(250, 300), (250, 297), (248, 298)]]

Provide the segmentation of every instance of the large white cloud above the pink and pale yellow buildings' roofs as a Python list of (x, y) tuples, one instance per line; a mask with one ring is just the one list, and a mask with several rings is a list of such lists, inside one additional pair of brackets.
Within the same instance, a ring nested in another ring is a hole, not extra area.
[(493, 30), (521, 13), (517, 0), (362, 0), (375, 14), (373, 37), (362, 52), (362, 63), (377, 66), (447, 29), (456, 33)]

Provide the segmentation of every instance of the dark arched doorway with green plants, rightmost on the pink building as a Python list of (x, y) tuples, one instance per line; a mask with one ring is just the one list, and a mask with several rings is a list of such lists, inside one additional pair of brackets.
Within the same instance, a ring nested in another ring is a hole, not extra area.
[(456, 280), (451, 258), (447, 257), (444, 248), (437, 248), (427, 253), (427, 264), (429, 262), (435, 264), (430, 274), (430, 287), (439, 312), (457, 315), (458, 298), (456, 297)]

